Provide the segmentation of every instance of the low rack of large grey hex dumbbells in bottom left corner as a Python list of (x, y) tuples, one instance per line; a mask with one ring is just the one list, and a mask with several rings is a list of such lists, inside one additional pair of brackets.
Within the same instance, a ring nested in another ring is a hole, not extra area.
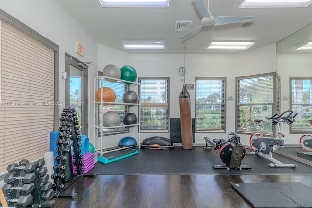
[(54, 191), (43, 165), (44, 159), (39, 159), (35, 163), (21, 160), (19, 165), (14, 163), (7, 167), (9, 173), (4, 177), (2, 189), (9, 206), (50, 208), (55, 204), (50, 200)]

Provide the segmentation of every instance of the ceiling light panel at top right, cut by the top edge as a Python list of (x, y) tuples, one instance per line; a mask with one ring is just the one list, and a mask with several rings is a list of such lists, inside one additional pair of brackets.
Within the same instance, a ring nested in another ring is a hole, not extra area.
[(244, 0), (239, 8), (287, 8), (307, 7), (312, 0)]

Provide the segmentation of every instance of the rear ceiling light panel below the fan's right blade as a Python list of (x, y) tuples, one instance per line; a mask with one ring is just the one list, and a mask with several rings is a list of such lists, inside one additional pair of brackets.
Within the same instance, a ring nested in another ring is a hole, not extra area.
[(207, 49), (216, 50), (246, 50), (250, 46), (254, 45), (254, 42), (221, 42), (212, 41)]

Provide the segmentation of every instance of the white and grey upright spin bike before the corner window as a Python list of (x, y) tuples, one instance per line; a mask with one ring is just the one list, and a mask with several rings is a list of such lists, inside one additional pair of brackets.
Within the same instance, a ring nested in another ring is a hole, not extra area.
[[(288, 115), (284, 116), (286, 113)], [(280, 123), (287, 123), (288, 125), (291, 125), (293, 122), (295, 122), (295, 117), (298, 113), (292, 115), (292, 111), (288, 110), (280, 115), (276, 113), (272, 117), (267, 117), (265, 119), (272, 120), (273, 127), (276, 128), (277, 131), (277, 137), (271, 138), (271, 137), (265, 137), (265, 134), (262, 131), (262, 119), (255, 119), (254, 123), (255, 125), (259, 126), (259, 132), (260, 136), (257, 134), (252, 134), (249, 138), (250, 147), (254, 152), (248, 152), (247, 154), (255, 154), (258, 156), (261, 156), (267, 160), (270, 160), (272, 163), (269, 163), (269, 167), (291, 167), (296, 168), (296, 164), (286, 164), (282, 163), (279, 160), (276, 160), (272, 157), (272, 152), (274, 149), (274, 146), (277, 145), (278, 147), (284, 147), (284, 140), (282, 137), (285, 135), (281, 133), (280, 129)]]

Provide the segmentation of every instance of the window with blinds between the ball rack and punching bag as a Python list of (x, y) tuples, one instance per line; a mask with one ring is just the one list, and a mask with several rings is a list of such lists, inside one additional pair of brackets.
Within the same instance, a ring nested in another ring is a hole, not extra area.
[(169, 77), (139, 77), (141, 132), (168, 132)]

